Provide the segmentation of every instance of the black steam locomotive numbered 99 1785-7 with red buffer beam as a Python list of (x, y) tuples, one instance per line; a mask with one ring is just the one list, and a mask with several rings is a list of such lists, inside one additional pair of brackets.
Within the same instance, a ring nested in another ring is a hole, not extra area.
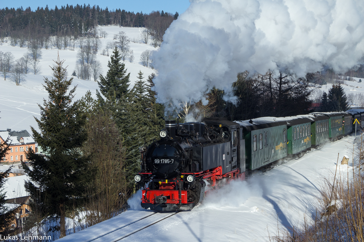
[[(206, 182), (245, 179), (245, 143), (241, 127), (228, 120), (203, 123), (167, 120), (161, 139), (142, 150), (142, 208), (190, 210), (202, 201)], [(145, 184), (149, 185), (145, 187)]]

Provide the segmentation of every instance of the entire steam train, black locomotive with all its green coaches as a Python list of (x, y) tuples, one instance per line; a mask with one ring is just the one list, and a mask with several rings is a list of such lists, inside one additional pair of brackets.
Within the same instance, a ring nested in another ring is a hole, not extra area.
[(353, 132), (352, 121), (358, 117), (358, 123), (364, 121), (364, 110), (235, 122), (166, 120), (161, 139), (141, 149), (141, 172), (134, 179), (142, 188), (142, 208), (191, 210), (203, 200), (206, 185), (244, 180), (246, 172), (270, 169), (287, 156), (300, 157)]

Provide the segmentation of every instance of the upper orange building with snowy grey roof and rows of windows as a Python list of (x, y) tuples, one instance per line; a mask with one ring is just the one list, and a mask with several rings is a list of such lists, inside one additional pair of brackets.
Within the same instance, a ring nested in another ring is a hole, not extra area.
[(37, 147), (35, 140), (26, 130), (15, 130), (11, 131), (8, 128), (6, 131), (0, 131), (0, 142), (3, 143), (7, 139), (10, 143), (10, 150), (5, 157), (0, 157), (1, 162), (20, 162), (25, 161), (25, 152), (28, 149), (35, 149), (37, 152)]

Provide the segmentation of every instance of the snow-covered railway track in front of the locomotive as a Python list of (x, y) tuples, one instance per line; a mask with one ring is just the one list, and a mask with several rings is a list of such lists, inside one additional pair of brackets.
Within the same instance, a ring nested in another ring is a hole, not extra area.
[(155, 212), (146, 217), (143, 217), (137, 221), (128, 223), (122, 227), (119, 227), (115, 230), (108, 232), (107, 234), (100, 235), (99, 237), (92, 239), (87, 242), (116, 242), (120, 241), (132, 234), (138, 233), (139, 231), (146, 229), (149, 226), (152, 226), (166, 218), (169, 218), (180, 211), (177, 212)]

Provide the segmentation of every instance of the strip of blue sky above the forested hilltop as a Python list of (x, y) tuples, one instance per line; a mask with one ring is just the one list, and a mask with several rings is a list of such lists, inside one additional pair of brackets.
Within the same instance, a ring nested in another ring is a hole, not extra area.
[(80, 2), (78, 0), (70, 0), (70, 1), (47, 1), (47, 0), (19, 0), (19, 1), (5, 1), (1, 0), (0, 8), (18, 8), (23, 6), (23, 8), (31, 7), (34, 11), (38, 6), (39, 7), (46, 7), (48, 4), (49, 8), (54, 8), (55, 5), (60, 7), (61, 5), (76, 5), (76, 4), (90, 4), (92, 5), (99, 5), (100, 8), (108, 8), (108, 9), (125, 9), (126, 11), (134, 11), (143, 13), (150, 13), (151, 11), (165, 11), (171, 13), (183, 13), (189, 7), (190, 2), (189, 0), (107, 0), (107, 1), (84, 1)]

